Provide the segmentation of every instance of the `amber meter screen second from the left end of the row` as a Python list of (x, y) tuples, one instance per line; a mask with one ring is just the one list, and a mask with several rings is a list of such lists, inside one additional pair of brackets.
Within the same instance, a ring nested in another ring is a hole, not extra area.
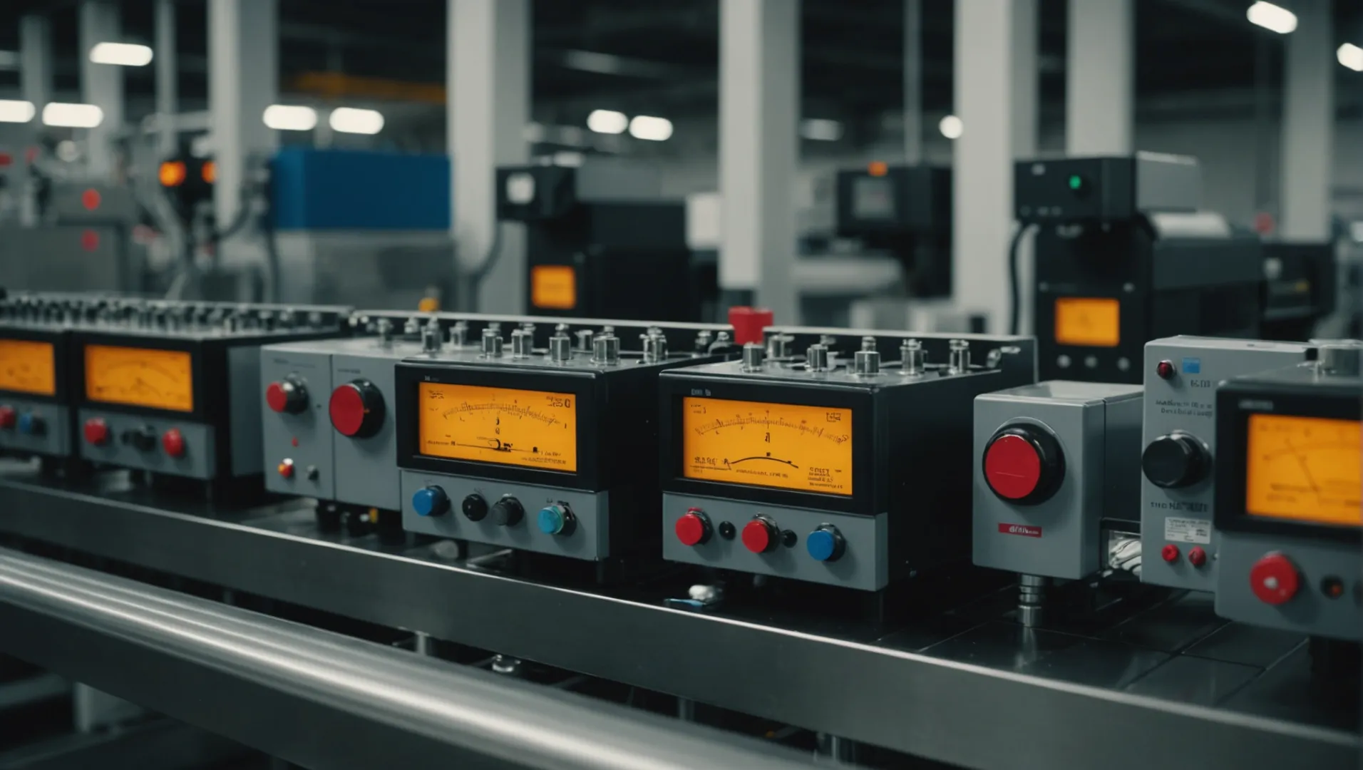
[(194, 367), (184, 350), (86, 345), (86, 398), (194, 412)]

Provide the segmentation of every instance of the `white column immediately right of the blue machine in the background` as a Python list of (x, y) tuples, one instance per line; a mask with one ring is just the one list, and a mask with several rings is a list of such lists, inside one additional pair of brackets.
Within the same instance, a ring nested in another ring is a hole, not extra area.
[(503, 224), (496, 237), (496, 169), (529, 158), (530, 4), (448, 0), (447, 20), (451, 234), (466, 274), (483, 270), (496, 247), (497, 262), (483, 279), (477, 309), (523, 312), (525, 226)]

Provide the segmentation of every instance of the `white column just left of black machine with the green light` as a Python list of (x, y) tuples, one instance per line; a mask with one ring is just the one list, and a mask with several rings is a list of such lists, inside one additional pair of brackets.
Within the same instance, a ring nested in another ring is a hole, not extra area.
[(964, 128), (951, 164), (951, 290), (990, 331), (1006, 331), (1009, 313), (1013, 161), (1036, 144), (1035, 35), (1035, 0), (955, 1), (954, 112)]

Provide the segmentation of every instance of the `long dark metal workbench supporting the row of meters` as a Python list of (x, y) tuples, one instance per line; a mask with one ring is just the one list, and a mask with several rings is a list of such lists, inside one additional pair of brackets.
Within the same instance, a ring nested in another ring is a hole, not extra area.
[(72, 487), (18, 466), (0, 472), (0, 534), (965, 767), (1145, 770), (1157, 754), (1165, 770), (1334, 769), (1360, 755), (1356, 699), (1313, 690), (1306, 639), (1220, 620), (1201, 594), (1037, 630), (1010, 619), (1006, 590), (890, 623), (682, 611), (664, 601), (684, 596), (680, 575), (563, 587), (448, 544), (323, 533), (304, 502), (172, 502), (121, 474)]

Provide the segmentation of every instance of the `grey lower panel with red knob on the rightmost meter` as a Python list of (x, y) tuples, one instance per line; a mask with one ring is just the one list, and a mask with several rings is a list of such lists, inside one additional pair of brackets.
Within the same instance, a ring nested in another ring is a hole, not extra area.
[[(1259, 601), (1250, 587), (1254, 563), (1274, 552), (1287, 556), (1296, 566), (1300, 578), (1296, 594), (1276, 606)], [(1359, 548), (1351, 542), (1227, 533), (1221, 537), (1217, 563), (1216, 613), (1254, 626), (1359, 641), (1363, 638), (1359, 563)], [(1344, 593), (1338, 597), (1326, 596), (1322, 586), (1326, 578), (1340, 581)]]

